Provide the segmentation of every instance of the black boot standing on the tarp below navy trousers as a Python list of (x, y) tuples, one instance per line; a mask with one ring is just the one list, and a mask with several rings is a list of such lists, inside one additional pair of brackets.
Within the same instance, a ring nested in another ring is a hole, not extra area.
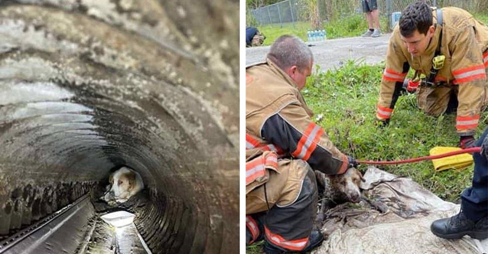
[(488, 217), (472, 221), (466, 217), (463, 211), (458, 214), (432, 222), (430, 231), (445, 239), (459, 239), (469, 235), (475, 239), (488, 238)]

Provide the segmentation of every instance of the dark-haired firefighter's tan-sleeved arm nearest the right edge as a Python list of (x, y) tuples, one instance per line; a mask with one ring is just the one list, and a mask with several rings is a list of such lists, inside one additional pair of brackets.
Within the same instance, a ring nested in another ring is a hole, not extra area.
[(459, 85), (456, 129), (461, 137), (473, 136), (478, 126), (487, 85), (483, 55), (473, 27), (460, 29), (449, 43), (454, 83)]

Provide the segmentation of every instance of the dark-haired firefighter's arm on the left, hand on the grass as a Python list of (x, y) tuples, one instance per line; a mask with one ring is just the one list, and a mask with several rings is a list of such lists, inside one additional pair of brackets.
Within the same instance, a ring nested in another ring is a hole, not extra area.
[(403, 82), (410, 65), (403, 55), (397, 42), (395, 33), (391, 35), (390, 44), (386, 51), (386, 67), (381, 79), (380, 96), (376, 105), (376, 120), (388, 123), (393, 108), (402, 91)]

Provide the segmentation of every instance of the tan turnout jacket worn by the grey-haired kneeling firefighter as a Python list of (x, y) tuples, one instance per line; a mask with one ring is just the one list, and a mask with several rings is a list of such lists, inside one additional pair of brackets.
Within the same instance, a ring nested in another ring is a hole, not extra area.
[(293, 80), (275, 63), (246, 68), (246, 148), (276, 149), (326, 174), (344, 173), (346, 155), (311, 115)]

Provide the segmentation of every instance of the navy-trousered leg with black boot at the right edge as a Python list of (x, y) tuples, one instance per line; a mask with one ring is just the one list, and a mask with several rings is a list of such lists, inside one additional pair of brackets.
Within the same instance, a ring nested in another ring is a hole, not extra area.
[(459, 239), (467, 234), (475, 239), (488, 238), (488, 127), (476, 146), (482, 150), (473, 154), (472, 185), (461, 194), (461, 211), (430, 225), (430, 231), (439, 237)]

